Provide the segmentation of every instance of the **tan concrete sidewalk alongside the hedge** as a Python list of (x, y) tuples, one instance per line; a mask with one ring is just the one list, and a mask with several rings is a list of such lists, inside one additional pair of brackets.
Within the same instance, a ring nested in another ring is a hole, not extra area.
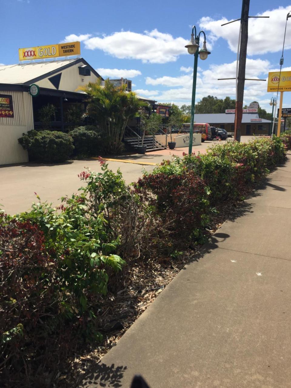
[(79, 387), (291, 386), (290, 156), (258, 194)]

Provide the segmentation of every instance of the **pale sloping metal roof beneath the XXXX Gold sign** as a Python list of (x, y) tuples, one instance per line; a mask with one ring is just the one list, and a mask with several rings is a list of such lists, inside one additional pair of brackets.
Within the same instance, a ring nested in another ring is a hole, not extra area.
[(25, 83), (74, 61), (76, 58), (0, 66), (0, 83)]

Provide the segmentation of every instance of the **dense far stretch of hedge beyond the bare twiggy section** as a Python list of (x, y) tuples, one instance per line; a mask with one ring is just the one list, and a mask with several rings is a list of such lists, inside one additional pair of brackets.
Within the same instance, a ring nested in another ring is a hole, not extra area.
[(285, 158), (284, 145), (275, 137), (227, 142), (213, 146), (207, 154), (185, 154), (182, 159), (164, 161), (135, 184), (135, 192), (149, 204), (155, 221), (149, 221), (146, 233), (159, 235), (160, 254), (193, 241), (203, 242), (201, 236), (213, 208), (223, 201), (244, 199), (254, 184)]

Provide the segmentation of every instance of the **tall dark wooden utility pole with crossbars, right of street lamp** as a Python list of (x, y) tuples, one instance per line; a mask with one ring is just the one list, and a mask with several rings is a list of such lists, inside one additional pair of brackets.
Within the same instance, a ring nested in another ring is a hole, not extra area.
[(248, 46), (249, 0), (242, 0), (241, 8), (241, 45), (239, 50), (239, 71), (237, 76), (237, 100), (234, 118), (234, 139), (241, 141), (242, 104), (244, 99), (244, 80), (246, 78), (246, 50)]

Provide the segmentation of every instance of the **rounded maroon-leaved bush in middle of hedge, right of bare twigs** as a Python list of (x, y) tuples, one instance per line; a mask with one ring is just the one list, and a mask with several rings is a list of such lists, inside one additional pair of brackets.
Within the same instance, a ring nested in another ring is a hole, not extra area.
[(201, 237), (211, 210), (206, 185), (195, 171), (184, 169), (173, 174), (162, 166), (140, 178), (135, 191), (148, 204), (149, 224), (156, 233), (152, 242), (159, 242), (165, 253)]

